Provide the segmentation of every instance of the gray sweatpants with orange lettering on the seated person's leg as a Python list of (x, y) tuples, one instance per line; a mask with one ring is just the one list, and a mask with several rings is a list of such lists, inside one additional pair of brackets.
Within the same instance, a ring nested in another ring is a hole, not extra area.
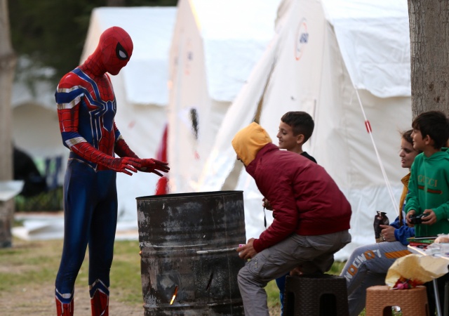
[(396, 258), (408, 254), (410, 251), (401, 242), (380, 242), (354, 249), (340, 274), (347, 280), (350, 316), (358, 316), (365, 308), (366, 289), (385, 285), (388, 269)]

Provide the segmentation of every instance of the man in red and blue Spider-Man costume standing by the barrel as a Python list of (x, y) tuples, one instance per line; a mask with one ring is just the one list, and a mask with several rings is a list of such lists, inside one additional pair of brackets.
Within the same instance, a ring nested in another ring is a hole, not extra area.
[[(109, 270), (117, 221), (116, 172), (168, 172), (168, 164), (140, 159), (114, 123), (116, 75), (133, 53), (120, 27), (102, 33), (95, 52), (62, 77), (55, 93), (62, 142), (69, 148), (64, 180), (64, 246), (55, 282), (59, 315), (73, 315), (74, 284), (87, 245), (92, 315), (109, 315)], [(115, 157), (115, 154), (119, 156)]]

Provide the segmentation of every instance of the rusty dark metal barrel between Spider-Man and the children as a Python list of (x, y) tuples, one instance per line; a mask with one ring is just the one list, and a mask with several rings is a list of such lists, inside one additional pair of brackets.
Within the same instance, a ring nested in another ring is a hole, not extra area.
[(145, 316), (244, 315), (242, 191), (138, 197)]

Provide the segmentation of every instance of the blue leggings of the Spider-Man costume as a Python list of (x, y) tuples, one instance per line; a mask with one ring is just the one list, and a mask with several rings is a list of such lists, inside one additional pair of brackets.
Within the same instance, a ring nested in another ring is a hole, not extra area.
[(69, 160), (64, 180), (64, 246), (55, 282), (62, 303), (72, 300), (88, 245), (88, 282), (100, 280), (109, 287), (116, 223), (116, 173), (95, 172), (87, 164)]

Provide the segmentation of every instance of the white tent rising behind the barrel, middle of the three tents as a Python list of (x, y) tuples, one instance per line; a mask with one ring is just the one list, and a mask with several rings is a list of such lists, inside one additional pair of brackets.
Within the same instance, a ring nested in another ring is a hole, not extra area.
[(170, 50), (170, 192), (198, 190), (229, 105), (274, 35), (279, 0), (180, 0)]

